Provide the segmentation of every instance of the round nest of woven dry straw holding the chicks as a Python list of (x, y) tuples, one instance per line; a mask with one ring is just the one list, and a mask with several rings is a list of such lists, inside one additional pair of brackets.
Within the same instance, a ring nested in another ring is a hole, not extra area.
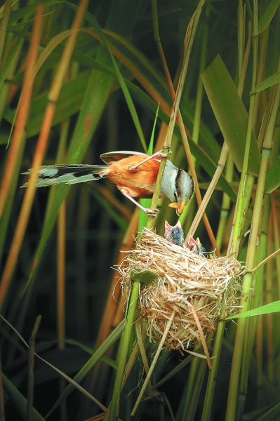
[(239, 309), (237, 294), (240, 263), (232, 256), (206, 258), (187, 248), (169, 243), (149, 229), (118, 267), (122, 286), (129, 294), (131, 271), (152, 270), (156, 278), (148, 285), (140, 284), (138, 318), (142, 319), (147, 335), (159, 343), (166, 323), (175, 316), (168, 331), (166, 349), (187, 350), (215, 330), (222, 300), (227, 314)]

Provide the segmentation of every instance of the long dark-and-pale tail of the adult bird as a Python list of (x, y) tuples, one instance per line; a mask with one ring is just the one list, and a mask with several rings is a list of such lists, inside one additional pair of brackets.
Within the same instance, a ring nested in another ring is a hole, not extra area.
[[(39, 168), (36, 187), (47, 187), (57, 185), (60, 182), (65, 184), (76, 184), (77, 182), (86, 182), (100, 180), (106, 176), (107, 166), (102, 165), (47, 165)], [(26, 173), (30, 175), (32, 169)], [(27, 187), (26, 182), (22, 187)]]

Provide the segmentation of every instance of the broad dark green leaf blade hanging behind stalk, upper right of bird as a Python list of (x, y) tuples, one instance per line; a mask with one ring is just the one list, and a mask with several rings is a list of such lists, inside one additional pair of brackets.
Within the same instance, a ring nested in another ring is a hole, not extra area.
[[(201, 74), (201, 79), (236, 168), (241, 172), (244, 161), (248, 114), (220, 55)], [(258, 175), (259, 169), (260, 153), (255, 134), (252, 131), (248, 173)]]

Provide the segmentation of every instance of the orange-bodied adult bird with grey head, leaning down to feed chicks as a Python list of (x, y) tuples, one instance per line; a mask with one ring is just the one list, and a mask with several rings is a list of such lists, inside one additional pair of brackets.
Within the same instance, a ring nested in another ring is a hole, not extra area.
[[(166, 157), (161, 152), (148, 155), (141, 152), (117, 151), (100, 155), (106, 166), (87, 164), (41, 166), (36, 187), (56, 185), (60, 182), (75, 184), (106, 177), (116, 184), (124, 196), (133, 201), (145, 213), (156, 218), (157, 209), (144, 208), (134, 198), (152, 197), (159, 164), (163, 156)], [(24, 174), (29, 175), (31, 171)], [(26, 187), (27, 184), (28, 182), (22, 187)], [(167, 160), (159, 197), (168, 197), (172, 202), (168, 206), (175, 208), (177, 215), (181, 215), (193, 194), (194, 180), (192, 177)]]

